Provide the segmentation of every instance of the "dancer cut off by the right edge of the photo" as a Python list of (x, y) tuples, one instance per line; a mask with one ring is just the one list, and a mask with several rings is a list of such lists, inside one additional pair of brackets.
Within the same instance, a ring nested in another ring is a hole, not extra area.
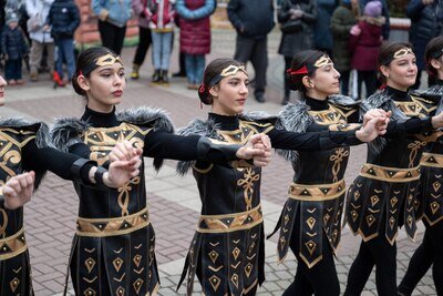
[[(436, 84), (425, 91), (416, 91), (421, 98), (439, 101), (436, 113), (443, 110), (443, 37), (432, 39), (426, 47), (425, 60), (429, 75)], [(422, 201), (423, 223), (426, 226), (422, 244), (411, 258), (406, 274), (399, 286), (399, 295), (409, 296), (416, 284), (432, 267), (437, 295), (443, 295), (443, 196), (441, 174), (443, 172), (443, 145), (441, 139), (425, 149), (421, 165), (419, 200)]]

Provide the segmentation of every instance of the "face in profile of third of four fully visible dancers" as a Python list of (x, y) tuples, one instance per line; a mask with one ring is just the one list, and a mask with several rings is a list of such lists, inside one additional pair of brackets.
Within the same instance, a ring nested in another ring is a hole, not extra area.
[(317, 69), (311, 78), (305, 76), (303, 84), (308, 96), (326, 100), (328, 95), (340, 93), (340, 73), (330, 62)]

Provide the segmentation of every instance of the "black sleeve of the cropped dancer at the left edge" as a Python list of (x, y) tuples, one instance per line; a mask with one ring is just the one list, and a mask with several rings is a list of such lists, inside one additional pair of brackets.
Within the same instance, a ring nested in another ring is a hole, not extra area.
[[(35, 145), (34, 141), (30, 141), (22, 149), (23, 166), (27, 170), (51, 171), (64, 180), (74, 180), (76, 176), (71, 172), (72, 164), (80, 156), (64, 153), (53, 147), (41, 147)], [(89, 182), (89, 171), (92, 164), (86, 164), (81, 170), (80, 177)]]

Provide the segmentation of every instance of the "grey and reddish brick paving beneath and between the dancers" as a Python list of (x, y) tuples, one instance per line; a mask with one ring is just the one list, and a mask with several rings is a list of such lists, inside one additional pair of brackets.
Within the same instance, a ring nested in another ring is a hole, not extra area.
[[(234, 33), (217, 30), (213, 33), (213, 52), (207, 60), (216, 57), (233, 57)], [(269, 69), (267, 103), (258, 104), (250, 99), (248, 110), (265, 110), (276, 113), (280, 109), (282, 58), (277, 52), (279, 33), (269, 38)], [(124, 49), (123, 60), (130, 72), (133, 48)], [(148, 59), (151, 60), (151, 59)], [(177, 51), (172, 58), (172, 72), (177, 70)], [(136, 105), (155, 105), (169, 111), (176, 126), (186, 124), (194, 118), (205, 118), (207, 108), (200, 110), (196, 93), (186, 90), (184, 79), (173, 79), (169, 88), (150, 86), (151, 65), (143, 65), (142, 78), (128, 81), (124, 102), (121, 108)], [(251, 72), (251, 71), (250, 71)], [(7, 106), (0, 110), (0, 115), (21, 114), (52, 122), (55, 116), (80, 115), (83, 101), (73, 90), (53, 90), (49, 75), (41, 76), (40, 82), (27, 83), (24, 86), (11, 86), (7, 90)], [(364, 147), (352, 150), (347, 181), (353, 180), (359, 166), (364, 161)], [(184, 257), (192, 239), (198, 216), (199, 200), (193, 177), (177, 177), (174, 162), (166, 162), (162, 171), (155, 175), (147, 172), (147, 191), (151, 206), (151, 217), (157, 233), (156, 254), (161, 269), (161, 295), (177, 295), (175, 286), (178, 280)], [(275, 226), (281, 206), (286, 200), (286, 191), (291, 180), (291, 169), (280, 157), (274, 156), (270, 166), (264, 170), (262, 204), (266, 217), (266, 232)], [(66, 263), (71, 239), (74, 233), (78, 201), (70, 182), (48, 174), (41, 188), (25, 207), (27, 235), (31, 252), (33, 283), (35, 294), (59, 295), (63, 290), (66, 274)], [(179, 225), (179, 227), (177, 227)], [(422, 228), (419, 242), (422, 237)], [(343, 231), (342, 243), (337, 257), (337, 269), (342, 290), (347, 274), (358, 251), (360, 239)], [(409, 259), (418, 246), (405, 239), (403, 233), (399, 236), (398, 279), (404, 274)], [(267, 282), (259, 288), (259, 295), (281, 295), (292, 277), (297, 266), (293, 256), (284, 264), (276, 264), (276, 241), (266, 243), (266, 277)], [(198, 292), (198, 285), (195, 285)], [(184, 288), (179, 290), (183, 295)], [(373, 274), (367, 284), (363, 295), (377, 295)], [(427, 274), (416, 288), (415, 295), (436, 295), (432, 277)]]

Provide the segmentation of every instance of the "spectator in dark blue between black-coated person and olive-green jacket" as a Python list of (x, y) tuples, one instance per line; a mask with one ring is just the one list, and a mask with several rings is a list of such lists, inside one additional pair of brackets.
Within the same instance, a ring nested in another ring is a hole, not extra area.
[(331, 17), (339, 0), (317, 0), (318, 18), (313, 29), (313, 47), (332, 55)]

